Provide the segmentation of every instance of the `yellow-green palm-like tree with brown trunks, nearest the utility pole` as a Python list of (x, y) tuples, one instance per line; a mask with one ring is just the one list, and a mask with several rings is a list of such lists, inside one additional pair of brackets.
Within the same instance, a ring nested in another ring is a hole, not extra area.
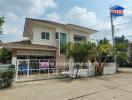
[(96, 58), (96, 64), (95, 64), (95, 75), (102, 75), (104, 66), (106, 63), (106, 60), (109, 56), (113, 55), (112, 46), (109, 43), (109, 40), (104, 38), (100, 41), (98, 41), (96, 48), (95, 48), (95, 58)]

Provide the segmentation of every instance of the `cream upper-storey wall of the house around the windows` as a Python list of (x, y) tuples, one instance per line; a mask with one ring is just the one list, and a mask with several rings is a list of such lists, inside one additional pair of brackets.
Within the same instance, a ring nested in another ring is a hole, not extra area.
[[(44, 40), (41, 39), (41, 32), (49, 32), (50, 33), (50, 39), (49, 40)], [(68, 30), (68, 29), (63, 29), (63, 28), (48, 28), (48, 27), (40, 27), (40, 26), (34, 26), (33, 27), (33, 39), (32, 39), (32, 44), (39, 44), (39, 45), (49, 45), (49, 46), (57, 46), (58, 40), (56, 40), (56, 32), (60, 33), (66, 33), (67, 34), (67, 42), (74, 42), (74, 35), (79, 35), (79, 36), (85, 36), (87, 41), (89, 41), (89, 34), (88, 33), (83, 33), (79, 32), (76, 30)]]

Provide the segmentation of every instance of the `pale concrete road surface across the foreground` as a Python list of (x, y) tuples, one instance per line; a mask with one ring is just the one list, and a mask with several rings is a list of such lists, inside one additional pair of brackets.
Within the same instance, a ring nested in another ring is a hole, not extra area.
[(17, 83), (0, 100), (132, 100), (132, 73)]

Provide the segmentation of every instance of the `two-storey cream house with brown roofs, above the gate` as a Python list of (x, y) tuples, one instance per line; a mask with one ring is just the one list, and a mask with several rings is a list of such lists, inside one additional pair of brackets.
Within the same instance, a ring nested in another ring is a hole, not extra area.
[(66, 61), (65, 45), (78, 41), (90, 41), (96, 30), (73, 24), (26, 18), (23, 36), (28, 41), (3, 43), (12, 51), (12, 64), (17, 59), (56, 59)]

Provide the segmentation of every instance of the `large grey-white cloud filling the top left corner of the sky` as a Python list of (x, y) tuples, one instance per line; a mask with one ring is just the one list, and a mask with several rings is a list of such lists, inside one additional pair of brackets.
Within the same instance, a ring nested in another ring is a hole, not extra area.
[(0, 0), (0, 9), (5, 13), (15, 13), (19, 16), (39, 16), (47, 7), (56, 7), (53, 0)]

